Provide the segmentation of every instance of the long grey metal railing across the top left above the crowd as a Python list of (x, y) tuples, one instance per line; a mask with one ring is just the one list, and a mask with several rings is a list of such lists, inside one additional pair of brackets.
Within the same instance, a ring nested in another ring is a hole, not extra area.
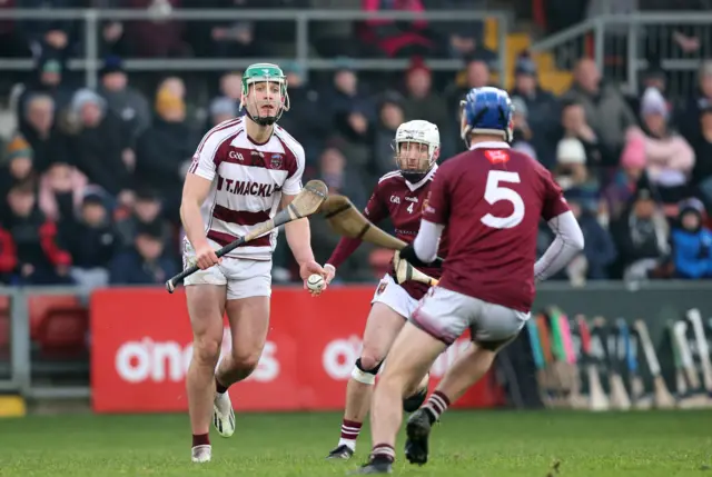
[[(498, 70), (506, 69), (506, 36), (508, 14), (503, 11), (477, 10), (436, 10), (425, 12), (379, 11), (366, 12), (358, 10), (172, 10), (156, 14), (148, 10), (99, 10), (99, 9), (58, 9), (58, 10), (0, 10), (0, 20), (75, 20), (82, 23), (82, 58), (69, 61), (70, 70), (85, 71), (86, 83), (92, 88), (97, 85), (97, 72), (100, 68), (100, 24), (111, 21), (226, 21), (226, 20), (261, 20), (285, 21), (294, 23), (295, 54), (290, 58), (259, 58), (267, 62), (296, 62), (305, 72), (315, 70), (334, 70), (339, 63), (334, 59), (314, 58), (310, 56), (312, 28), (315, 22), (356, 22), (364, 20), (396, 20), (427, 22), (473, 22), (494, 19), (497, 23), (498, 38)], [(354, 39), (354, 41), (359, 41)], [(228, 68), (245, 68), (254, 59), (245, 58), (127, 58), (125, 68), (128, 71), (211, 71)], [(463, 67), (457, 59), (431, 59), (426, 63), (433, 70), (458, 70)], [(363, 58), (349, 60), (349, 66), (356, 70), (398, 71), (408, 66), (407, 59)], [(33, 68), (32, 60), (0, 58), (0, 71), (27, 71)], [(500, 74), (504, 85), (504, 74)]]

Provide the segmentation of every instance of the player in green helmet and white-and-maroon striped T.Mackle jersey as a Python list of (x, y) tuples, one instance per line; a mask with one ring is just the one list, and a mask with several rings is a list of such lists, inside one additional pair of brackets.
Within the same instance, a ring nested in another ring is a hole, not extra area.
[[(244, 117), (221, 122), (202, 138), (180, 206), (187, 237), (184, 261), (200, 268), (185, 279), (194, 332), (187, 388), (195, 463), (211, 457), (211, 410), (220, 436), (235, 431), (227, 389), (253, 372), (265, 346), (277, 231), (222, 258), (215, 250), (269, 220), (301, 190), (304, 149), (276, 125), (289, 109), (287, 79), (278, 66), (257, 63), (245, 70), (240, 108)], [(306, 288), (312, 274), (326, 275), (314, 260), (308, 220), (287, 223), (285, 233)], [(225, 312), (231, 352), (218, 365)]]

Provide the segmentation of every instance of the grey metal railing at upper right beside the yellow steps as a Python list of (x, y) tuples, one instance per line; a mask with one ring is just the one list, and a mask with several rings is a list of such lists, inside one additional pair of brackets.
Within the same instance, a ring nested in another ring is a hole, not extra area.
[(657, 63), (668, 72), (669, 91), (684, 93), (694, 87), (701, 60), (712, 58), (712, 12), (604, 14), (535, 42), (532, 51), (554, 53), (563, 69), (594, 58), (607, 79), (633, 95), (641, 72)]

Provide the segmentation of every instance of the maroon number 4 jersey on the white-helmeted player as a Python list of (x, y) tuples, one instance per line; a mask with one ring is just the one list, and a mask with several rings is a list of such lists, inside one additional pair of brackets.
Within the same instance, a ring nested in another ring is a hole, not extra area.
[[(378, 180), (370, 199), (368, 199), (364, 216), (374, 223), (390, 217), (396, 237), (406, 244), (411, 244), (415, 240), (415, 236), (421, 228), (423, 206), (432, 187), (436, 169), (437, 166), (433, 167), (431, 172), (418, 182), (418, 187), (406, 182), (398, 171), (386, 173)], [(334, 249), (327, 264), (338, 268), (359, 245), (359, 239), (343, 238)], [(439, 244), (438, 257), (445, 258), (446, 254), (447, 237), (444, 235)], [(418, 270), (433, 278), (439, 278), (442, 272), (439, 268), (429, 267), (418, 268)], [(395, 279), (393, 261), (390, 262), (389, 272)], [(400, 284), (400, 286), (416, 300), (419, 300), (428, 289), (427, 285), (412, 280)]]

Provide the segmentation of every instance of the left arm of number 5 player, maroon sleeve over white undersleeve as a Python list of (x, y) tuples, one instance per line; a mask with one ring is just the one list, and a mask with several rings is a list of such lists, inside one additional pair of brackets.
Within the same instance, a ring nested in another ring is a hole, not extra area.
[(449, 216), (447, 173), (441, 169), (433, 179), (427, 200), (423, 206), (421, 228), (413, 244), (400, 250), (400, 258), (414, 267), (424, 267), (437, 259), (441, 237)]

